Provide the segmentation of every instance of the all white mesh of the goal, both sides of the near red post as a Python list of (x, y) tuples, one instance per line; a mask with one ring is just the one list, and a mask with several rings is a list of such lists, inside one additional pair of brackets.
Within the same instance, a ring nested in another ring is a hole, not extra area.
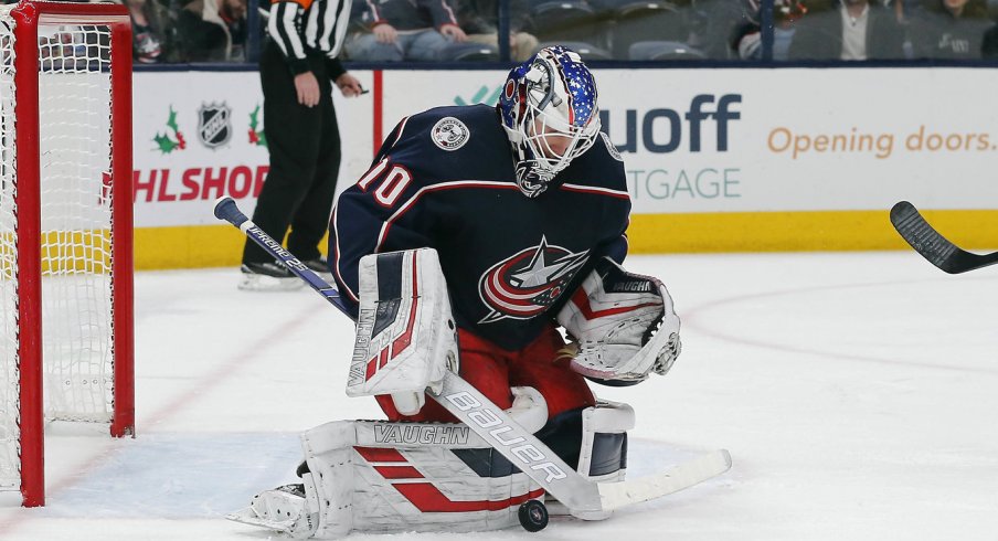
[[(0, 8), (0, 488), (18, 481), (18, 274), (14, 82), (9, 11)], [(10, 43), (6, 43), (10, 42)], [(39, 29), (42, 351), (45, 417), (110, 421), (112, 208), (109, 29)], [(26, 397), (22, 400), (29, 400)]]

